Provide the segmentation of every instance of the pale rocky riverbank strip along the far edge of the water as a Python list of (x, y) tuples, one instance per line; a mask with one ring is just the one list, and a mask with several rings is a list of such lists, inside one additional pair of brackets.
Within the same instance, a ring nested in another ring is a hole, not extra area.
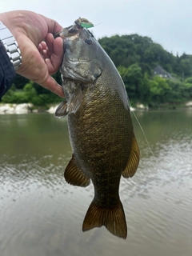
[[(55, 104), (54, 106), (50, 106), (48, 109), (45, 109), (43, 107), (35, 107), (32, 103), (22, 103), (22, 104), (10, 104), (10, 103), (5, 103), (1, 104), (0, 103), (0, 114), (28, 114), (28, 113), (37, 113), (37, 112), (47, 112), (50, 114), (54, 114), (55, 110), (57, 109), (59, 103)], [(169, 106), (163, 106), (163, 108), (169, 108), (172, 105)], [(182, 105), (182, 107), (192, 107), (192, 102), (186, 102), (185, 104)], [(176, 109), (179, 106), (176, 106), (172, 109)], [(131, 111), (134, 110), (149, 110), (150, 108), (148, 106), (144, 106), (143, 104), (138, 104), (135, 108), (130, 107)]]

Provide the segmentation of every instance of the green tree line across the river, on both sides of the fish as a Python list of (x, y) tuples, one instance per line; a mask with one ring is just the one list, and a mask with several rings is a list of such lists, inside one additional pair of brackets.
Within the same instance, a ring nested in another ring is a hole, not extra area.
[[(192, 98), (192, 55), (174, 56), (151, 38), (138, 34), (115, 35), (98, 42), (118, 68), (132, 105), (138, 102), (151, 107), (178, 105)], [(155, 75), (156, 66), (166, 70), (170, 78)], [(54, 78), (61, 84), (59, 72)], [(46, 106), (61, 102), (61, 98), (17, 75), (2, 102), (31, 102), (35, 106)]]

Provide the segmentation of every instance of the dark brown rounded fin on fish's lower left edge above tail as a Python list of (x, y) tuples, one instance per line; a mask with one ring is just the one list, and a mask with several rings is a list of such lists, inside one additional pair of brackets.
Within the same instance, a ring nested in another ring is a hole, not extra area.
[(82, 170), (77, 166), (74, 155), (72, 155), (70, 162), (66, 166), (64, 178), (66, 179), (66, 182), (74, 186), (90, 185), (90, 178), (86, 177)]

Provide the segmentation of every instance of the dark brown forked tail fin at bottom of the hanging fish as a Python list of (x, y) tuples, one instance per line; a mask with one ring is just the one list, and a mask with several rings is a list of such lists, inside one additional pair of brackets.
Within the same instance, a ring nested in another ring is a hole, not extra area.
[(126, 239), (126, 216), (123, 210), (122, 202), (119, 200), (115, 208), (101, 208), (91, 202), (86, 212), (86, 217), (82, 224), (82, 231), (91, 230), (94, 227), (106, 226), (110, 233), (119, 238)]

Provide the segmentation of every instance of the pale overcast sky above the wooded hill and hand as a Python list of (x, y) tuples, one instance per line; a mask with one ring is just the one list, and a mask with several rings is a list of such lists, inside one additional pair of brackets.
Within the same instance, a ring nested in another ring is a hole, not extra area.
[(192, 0), (0, 0), (0, 12), (33, 10), (70, 26), (78, 17), (95, 25), (96, 38), (148, 36), (173, 54), (192, 54)]

